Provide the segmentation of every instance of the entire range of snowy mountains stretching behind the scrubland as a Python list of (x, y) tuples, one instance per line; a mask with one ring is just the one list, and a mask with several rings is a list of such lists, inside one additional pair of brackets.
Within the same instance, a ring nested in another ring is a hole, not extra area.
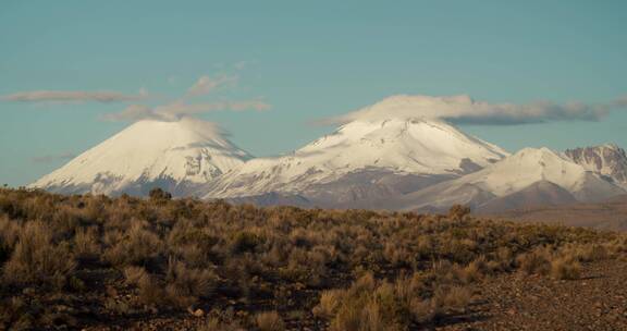
[(63, 194), (222, 198), (258, 205), (478, 212), (595, 203), (627, 194), (616, 145), (524, 148), (514, 155), (446, 121), (410, 113), (403, 97), (378, 102), (288, 155), (253, 158), (200, 120), (138, 121), (33, 183)]

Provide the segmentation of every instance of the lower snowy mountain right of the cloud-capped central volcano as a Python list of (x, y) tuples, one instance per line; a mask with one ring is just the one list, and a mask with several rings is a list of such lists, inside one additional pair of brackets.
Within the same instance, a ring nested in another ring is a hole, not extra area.
[[(530, 191), (530, 187), (533, 189)], [(579, 201), (599, 201), (625, 194), (624, 189), (599, 174), (587, 171), (548, 148), (525, 148), (481, 171), (404, 196), (391, 206), (398, 209), (419, 209), (467, 204), (481, 208), (493, 199), (507, 196), (511, 198), (503, 201), (512, 205), (514, 194), (522, 198), (529, 197), (529, 192), (538, 195), (544, 189), (543, 194), (546, 196), (556, 196), (557, 187)], [(526, 193), (520, 194), (524, 191)], [(561, 194), (555, 200), (570, 200), (570, 197)], [(524, 201), (518, 204), (524, 205)], [(494, 206), (491, 208), (496, 209)]]

